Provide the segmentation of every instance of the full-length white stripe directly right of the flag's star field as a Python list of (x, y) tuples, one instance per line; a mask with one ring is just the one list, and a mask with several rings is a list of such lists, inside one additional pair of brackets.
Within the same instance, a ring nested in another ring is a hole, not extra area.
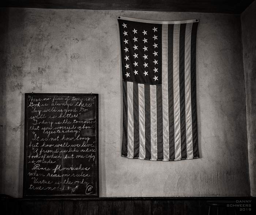
[(168, 25), (162, 25), (163, 160), (169, 161)]

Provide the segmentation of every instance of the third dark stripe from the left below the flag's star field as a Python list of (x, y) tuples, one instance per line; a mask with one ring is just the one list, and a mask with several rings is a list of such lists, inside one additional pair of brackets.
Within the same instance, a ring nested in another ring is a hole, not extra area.
[(150, 85), (144, 84), (145, 98), (145, 159), (151, 158)]

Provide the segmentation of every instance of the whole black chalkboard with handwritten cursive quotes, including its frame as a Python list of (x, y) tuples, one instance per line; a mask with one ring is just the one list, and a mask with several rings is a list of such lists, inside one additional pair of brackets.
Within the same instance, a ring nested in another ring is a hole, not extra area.
[(98, 94), (25, 94), (23, 197), (99, 196)]

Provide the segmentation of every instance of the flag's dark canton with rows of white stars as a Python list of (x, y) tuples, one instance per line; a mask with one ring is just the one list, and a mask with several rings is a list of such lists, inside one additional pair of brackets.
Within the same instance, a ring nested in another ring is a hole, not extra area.
[(118, 22), (123, 80), (162, 84), (162, 24)]

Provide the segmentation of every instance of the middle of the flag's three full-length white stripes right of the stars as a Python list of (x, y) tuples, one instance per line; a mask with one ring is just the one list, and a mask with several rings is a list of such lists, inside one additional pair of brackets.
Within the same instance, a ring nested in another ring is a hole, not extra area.
[(180, 24), (175, 24), (173, 29), (173, 99), (174, 99), (174, 143), (175, 160), (181, 159), (180, 140), (180, 75), (179, 75), (179, 45), (180, 45)]

